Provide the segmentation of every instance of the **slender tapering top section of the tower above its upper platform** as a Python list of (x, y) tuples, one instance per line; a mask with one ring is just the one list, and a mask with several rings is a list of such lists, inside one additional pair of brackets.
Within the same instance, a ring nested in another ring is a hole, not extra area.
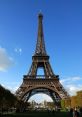
[(42, 15), (42, 13), (39, 13), (39, 15), (38, 15), (38, 36), (37, 36), (35, 55), (46, 55), (42, 20), (43, 20), (43, 15)]

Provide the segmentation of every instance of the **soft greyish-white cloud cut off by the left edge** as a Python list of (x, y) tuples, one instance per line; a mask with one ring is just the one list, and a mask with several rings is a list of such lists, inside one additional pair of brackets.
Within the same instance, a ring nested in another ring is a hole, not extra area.
[(0, 47), (0, 71), (6, 71), (13, 64), (13, 59), (7, 54), (6, 49)]

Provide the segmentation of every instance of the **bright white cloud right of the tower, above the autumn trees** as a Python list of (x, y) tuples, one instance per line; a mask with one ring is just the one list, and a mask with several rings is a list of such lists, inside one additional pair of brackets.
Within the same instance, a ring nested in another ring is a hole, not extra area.
[(77, 91), (82, 90), (82, 78), (81, 77), (64, 78), (60, 80), (60, 82), (71, 96), (76, 95)]

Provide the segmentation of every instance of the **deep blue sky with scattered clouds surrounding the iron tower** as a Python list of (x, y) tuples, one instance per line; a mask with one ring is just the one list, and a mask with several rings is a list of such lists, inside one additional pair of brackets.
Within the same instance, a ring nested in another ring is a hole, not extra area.
[(0, 84), (15, 91), (28, 73), (40, 11), (51, 66), (73, 95), (82, 89), (82, 0), (0, 0)]

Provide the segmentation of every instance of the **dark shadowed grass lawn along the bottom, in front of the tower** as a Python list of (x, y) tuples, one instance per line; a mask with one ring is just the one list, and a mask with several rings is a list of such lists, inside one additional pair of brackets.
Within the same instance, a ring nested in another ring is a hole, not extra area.
[(2, 117), (72, 117), (68, 112), (29, 111), (26, 113), (14, 113), (1, 115)]

